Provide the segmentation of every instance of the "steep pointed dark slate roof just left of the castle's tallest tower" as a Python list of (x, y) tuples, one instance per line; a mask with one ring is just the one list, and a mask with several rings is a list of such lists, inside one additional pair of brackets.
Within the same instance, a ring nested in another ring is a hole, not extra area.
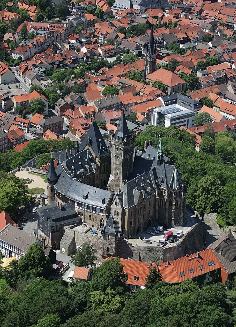
[[(87, 146), (88, 137), (90, 137), (90, 139), (91, 139), (91, 146), (92, 146), (92, 149), (93, 149), (96, 157), (99, 157), (100, 154), (106, 155), (108, 153), (107, 146), (103, 140), (102, 134), (101, 134), (96, 122), (93, 122), (89, 126), (89, 129), (85, 135), (85, 138), (83, 139), (83, 141), (80, 145), (80, 150), (83, 150)], [(101, 147), (102, 151), (100, 151), (100, 147)]]

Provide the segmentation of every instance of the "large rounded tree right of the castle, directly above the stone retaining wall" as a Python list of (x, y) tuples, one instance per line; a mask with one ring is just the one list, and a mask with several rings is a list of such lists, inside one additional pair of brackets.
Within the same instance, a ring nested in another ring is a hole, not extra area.
[(222, 186), (213, 176), (205, 176), (198, 183), (195, 208), (200, 215), (217, 212)]

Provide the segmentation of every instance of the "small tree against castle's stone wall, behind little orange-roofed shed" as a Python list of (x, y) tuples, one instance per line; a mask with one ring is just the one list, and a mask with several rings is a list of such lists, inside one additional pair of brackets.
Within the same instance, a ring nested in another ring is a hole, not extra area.
[(71, 262), (78, 267), (96, 267), (97, 250), (94, 249), (94, 244), (87, 242), (82, 244), (81, 250), (76, 250), (75, 254), (71, 257)]

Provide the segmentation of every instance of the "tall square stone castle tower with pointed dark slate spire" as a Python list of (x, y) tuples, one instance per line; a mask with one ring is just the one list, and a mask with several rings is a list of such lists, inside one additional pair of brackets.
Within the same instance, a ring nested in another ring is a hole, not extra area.
[(133, 170), (135, 143), (127, 127), (123, 110), (116, 132), (109, 133), (109, 142), (111, 144), (111, 176), (107, 189), (118, 193)]

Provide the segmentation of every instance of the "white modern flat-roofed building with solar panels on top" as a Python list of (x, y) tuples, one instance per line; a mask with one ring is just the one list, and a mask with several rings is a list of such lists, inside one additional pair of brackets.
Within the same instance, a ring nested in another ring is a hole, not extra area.
[(178, 104), (159, 106), (151, 109), (151, 125), (153, 126), (184, 126), (194, 127), (194, 111), (186, 109)]

